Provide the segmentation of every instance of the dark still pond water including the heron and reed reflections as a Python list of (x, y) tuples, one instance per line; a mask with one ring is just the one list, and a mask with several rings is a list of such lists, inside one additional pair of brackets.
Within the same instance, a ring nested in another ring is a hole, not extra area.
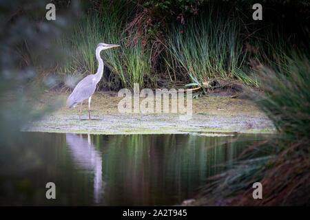
[[(164, 206), (199, 194), (260, 135), (24, 133), (22, 162), (3, 164), (0, 204)], [(12, 167), (11, 167), (12, 166)], [(14, 167), (13, 167), (14, 166)], [(10, 170), (10, 171), (9, 171)], [(56, 199), (46, 199), (54, 182)]]

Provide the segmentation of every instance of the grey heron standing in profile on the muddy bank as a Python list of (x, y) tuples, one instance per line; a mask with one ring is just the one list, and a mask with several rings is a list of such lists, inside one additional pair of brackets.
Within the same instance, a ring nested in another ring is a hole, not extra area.
[(114, 44), (106, 44), (99, 43), (96, 48), (96, 59), (99, 63), (98, 70), (96, 74), (90, 74), (83, 78), (73, 89), (72, 94), (68, 97), (68, 107), (71, 109), (72, 107), (76, 107), (76, 104), (81, 103), (79, 119), (81, 120), (81, 111), (82, 111), (82, 103), (83, 100), (88, 98), (88, 117), (90, 118), (90, 101), (92, 100), (92, 94), (96, 90), (96, 85), (101, 80), (103, 75), (103, 60), (100, 56), (100, 52), (102, 50), (107, 50), (112, 47), (120, 47), (120, 45)]

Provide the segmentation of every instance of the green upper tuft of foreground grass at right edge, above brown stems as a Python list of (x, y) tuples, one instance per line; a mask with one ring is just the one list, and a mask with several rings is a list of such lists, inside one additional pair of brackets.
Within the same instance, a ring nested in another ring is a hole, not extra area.
[(256, 94), (255, 100), (279, 132), (298, 141), (310, 133), (310, 65), (307, 58), (298, 55), (286, 61), (287, 65), (276, 71), (256, 67), (265, 96)]

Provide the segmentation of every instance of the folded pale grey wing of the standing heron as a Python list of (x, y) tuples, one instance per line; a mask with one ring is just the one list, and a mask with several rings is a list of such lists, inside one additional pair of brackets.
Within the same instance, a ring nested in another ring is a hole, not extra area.
[(73, 89), (72, 94), (68, 98), (68, 107), (72, 107), (87, 98), (90, 98), (96, 89), (96, 81), (94, 76), (89, 75), (83, 78)]

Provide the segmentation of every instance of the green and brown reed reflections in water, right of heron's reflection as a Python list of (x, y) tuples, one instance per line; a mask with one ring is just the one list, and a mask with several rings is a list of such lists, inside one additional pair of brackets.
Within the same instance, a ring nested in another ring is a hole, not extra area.
[[(254, 137), (256, 135), (251, 135)], [(126, 190), (124, 201), (111, 205), (163, 205), (182, 203), (196, 196), (205, 179), (226, 168), (247, 142), (234, 137), (192, 135), (111, 135), (105, 142), (103, 173), (118, 188), (107, 184), (107, 193)], [(252, 142), (252, 140), (249, 140)], [(117, 172), (116, 172), (117, 170)], [(112, 186), (112, 187), (111, 187)], [(110, 187), (110, 188), (109, 188)]]

